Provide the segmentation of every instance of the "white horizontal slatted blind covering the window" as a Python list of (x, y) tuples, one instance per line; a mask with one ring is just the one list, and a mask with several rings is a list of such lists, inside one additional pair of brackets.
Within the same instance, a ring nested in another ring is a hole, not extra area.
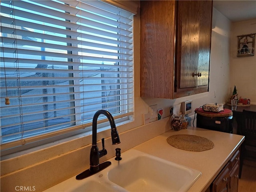
[(91, 126), (101, 109), (133, 115), (132, 13), (95, 0), (0, 6), (1, 148)]

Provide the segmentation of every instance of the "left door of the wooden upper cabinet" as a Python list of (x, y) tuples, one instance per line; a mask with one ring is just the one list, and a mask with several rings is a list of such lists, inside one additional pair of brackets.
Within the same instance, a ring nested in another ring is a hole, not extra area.
[(177, 80), (179, 88), (197, 86), (197, 78), (192, 73), (197, 73), (199, 50), (199, 18), (196, 13), (198, 1), (178, 2), (178, 35), (177, 35)]

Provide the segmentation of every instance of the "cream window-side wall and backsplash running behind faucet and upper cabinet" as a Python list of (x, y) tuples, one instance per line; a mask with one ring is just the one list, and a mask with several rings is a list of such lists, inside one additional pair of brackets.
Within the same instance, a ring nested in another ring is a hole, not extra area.
[[(139, 14), (134, 21), (134, 81), (135, 104), (134, 122), (118, 126), (122, 151), (128, 150), (150, 138), (162, 134), (169, 129), (169, 108), (186, 100), (193, 100), (193, 110), (206, 103), (223, 103), (228, 95), (229, 81), (229, 44), (230, 22), (217, 10), (213, 10), (213, 31), (210, 62), (209, 92), (187, 96), (175, 100), (140, 98), (140, 39)], [(216, 98), (214, 98), (214, 91)], [(143, 125), (143, 114), (150, 105), (157, 104), (164, 109), (162, 120)], [(190, 115), (194, 115), (191, 113)], [(98, 140), (106, 138), (105, 148), (108, 154), (100, 160), (104, 161), (115, 155), (110, 142), (110, 131), (98, 134)], [(1, 158), (1, 191), (15, 191), (15, 186), (35, 186), (36, 191), (44, 190), (62, 180), (84, 171), (89, 167), (91, 135), (82, 134), (77, 137), (60, 140), (38, 146), (37, 148), (11, 154)], [(101, 144), (100, 144), (101, 146)], [(99, 148), (101, 149), (101, 147)]]

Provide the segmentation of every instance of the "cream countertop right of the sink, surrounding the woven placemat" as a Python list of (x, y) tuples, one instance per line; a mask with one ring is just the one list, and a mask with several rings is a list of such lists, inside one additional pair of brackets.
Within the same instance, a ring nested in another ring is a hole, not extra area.
[[(191, 134), (208, 138), (214, 148), (202, 152), (192, 152), (175, 148), (167, 143), (167, 138), (174, 134)], [(170, 130), (152, 138), (133, 149), (140, 150), (184, 166), (199, 170), (202, 176), (190, 188), (190, 192), (205, 191), (225, 164), (230, 160), (244, 136), (224, 132), (188, 127), (188, 129)]]

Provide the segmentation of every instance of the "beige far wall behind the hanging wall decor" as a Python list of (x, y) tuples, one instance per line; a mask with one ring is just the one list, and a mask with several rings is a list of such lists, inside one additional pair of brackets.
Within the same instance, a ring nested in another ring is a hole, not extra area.
[(251, 33), (256, 33), (256, 19), (232, 23), (229, 90), (232, 94), (236, 85), (238, 97), (249, 98), (251, 104), (256, 104), (256, 55), (236, 56), (237, 36)]

